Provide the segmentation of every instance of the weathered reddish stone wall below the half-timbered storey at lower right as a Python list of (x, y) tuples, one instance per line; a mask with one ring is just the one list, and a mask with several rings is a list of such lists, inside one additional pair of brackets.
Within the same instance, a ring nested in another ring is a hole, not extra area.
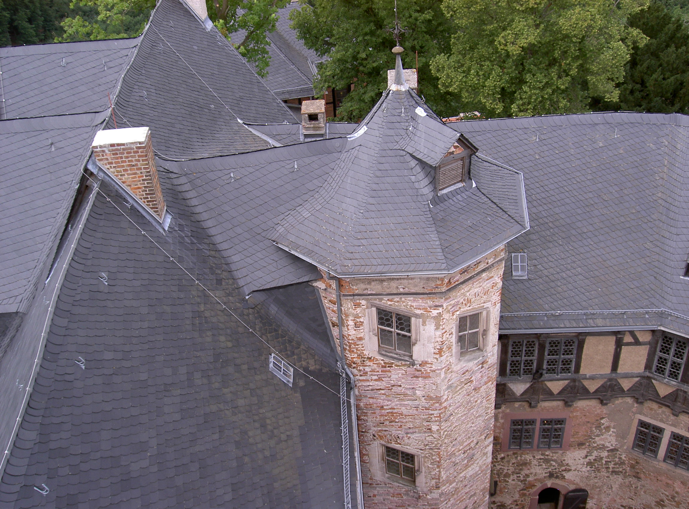
[[(572, 435), (567, 451), (501, 451), (502, 431), (509, 426), (508, 413), (568, 412)], [(655, 402), (637, 404), (634, 398), (619, 398), (608, 405), (597, 400), (579, 400), (567, 408), (550, 401), (537, 409), (526, 403), (506, 403), (495, 413), (493, 477), (498, 490), (491, 499), (495, 509), (526, 509), (534, 490), (548, 481), (589, 492), (587, 509), (686, 508), (689, 472), (644, 457), (630, 450), (635, 415), (685, 431), (689, 415), (675, 417)], [(666, 431), (668, 433), (668, 431)]]

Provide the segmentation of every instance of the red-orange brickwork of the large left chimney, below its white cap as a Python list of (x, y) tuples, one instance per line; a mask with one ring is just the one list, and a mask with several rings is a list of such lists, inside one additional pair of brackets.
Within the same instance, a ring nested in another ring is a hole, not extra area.
[(111, 143), (93, 147), (96, 160), (141, 199), (155, 215), (165, 215), (165, 200), (153, 154), (151, 132), (145, 140), (132, 143)]

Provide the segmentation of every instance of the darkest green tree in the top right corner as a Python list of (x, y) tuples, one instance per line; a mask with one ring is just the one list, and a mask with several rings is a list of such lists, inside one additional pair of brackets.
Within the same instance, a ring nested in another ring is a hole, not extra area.
[(633, 48), (619, 102), (594, 102), (594, 109), (689, 113), (689, 29), (681, 17), (654, 1), (629, 25), (648, 42)]

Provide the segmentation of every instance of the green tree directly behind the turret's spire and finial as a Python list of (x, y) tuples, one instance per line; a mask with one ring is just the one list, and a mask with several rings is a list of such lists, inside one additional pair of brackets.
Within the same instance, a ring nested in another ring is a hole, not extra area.
[[(316, 90), (353, 91), (338, 108), (338, 118), (357, 120), (368, 113), (387, 89), (387, 71), (395, 61), (395, 45), (387, 32), (395, 24), (393, 0), (311, 0), (290, 14), (305, 45), (329, 60), (318, 67)], [(456, 96), (438, 89), (431, 74), (431, 58), (449, 51), (452, 25), (433, 0), (399, 0), (400, 25), (407, 32), (400, 44), (404, 67), (416, 67), (418, 52), (419, 93), (440, 115), (458, 112)]]

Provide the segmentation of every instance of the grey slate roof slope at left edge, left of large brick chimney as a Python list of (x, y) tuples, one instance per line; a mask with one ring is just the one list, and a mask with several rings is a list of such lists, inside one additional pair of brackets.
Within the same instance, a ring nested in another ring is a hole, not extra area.
[(0, 313), (23, 312), (107, 113), (0, 121)]

